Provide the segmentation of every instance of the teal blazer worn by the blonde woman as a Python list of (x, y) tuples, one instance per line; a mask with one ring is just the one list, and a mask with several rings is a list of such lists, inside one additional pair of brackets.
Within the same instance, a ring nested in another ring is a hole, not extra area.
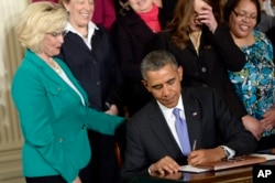
[[(87, 104), (87, 95), (69, 68), (55, 61)], [(24, 176), (62, 175), (73, 182), (91, 157), (86, 128), (113, 134), (124, 121), (84, 105), (79, 95), (30, 50), (13, 77), (11, 93), (24, 137)]]

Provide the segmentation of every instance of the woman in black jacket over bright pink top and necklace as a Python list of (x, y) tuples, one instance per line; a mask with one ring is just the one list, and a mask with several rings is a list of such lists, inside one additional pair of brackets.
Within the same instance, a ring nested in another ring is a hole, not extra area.
[(166, 20), (153, 0), (142, 4), (138, 0), (128, 0), (128, 3), (130, 7), (113, 24), (112, 37), (124, 78), (123, 100), (129, 116), (132, 116), (151, 99), (141, 83), (140, 64), (153, 50), (156, 33), (165, 26)]

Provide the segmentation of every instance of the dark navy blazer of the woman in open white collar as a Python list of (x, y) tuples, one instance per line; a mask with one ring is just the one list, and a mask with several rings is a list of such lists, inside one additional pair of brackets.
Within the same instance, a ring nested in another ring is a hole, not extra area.
[(106, 101), (120, 105), (121, 73), (113, 52), (113, 44), (102, 26), (91, 37), (90, 51), (79, 35), (68, 32), (58, 55), (72, 69), (88, 94), (89, 104), (106, 110)]

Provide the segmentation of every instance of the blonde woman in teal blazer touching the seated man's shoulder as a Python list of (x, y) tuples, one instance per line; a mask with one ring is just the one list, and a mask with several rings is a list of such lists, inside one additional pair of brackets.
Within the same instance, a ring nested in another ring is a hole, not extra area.
[[(12, 98), (24, 137), (28, 183), (81, 183), (90, 160), (87, 129), (112, 136), (123, 118), (88, 107), (88, 97), (59, 54), (66, 11), (52, 2), (31, 3), (16, 33), (26, 47), (12, 82)], [(100, 122), (98, 122), (100, 121)]]

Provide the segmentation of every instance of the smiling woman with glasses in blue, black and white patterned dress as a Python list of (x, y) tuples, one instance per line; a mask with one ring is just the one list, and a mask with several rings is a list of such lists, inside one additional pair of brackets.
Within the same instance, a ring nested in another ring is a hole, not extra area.
[(254, 28), (261, 20), (258, 0), (229, 0), (224, 7), (235, 44), (246, 56), (241, 72), (229, 72), (237, 94), (248, 114), (243, 125), (258, 140), (258, 150), (275, 147), (275, 68), (273, 46), (264, 33)]

